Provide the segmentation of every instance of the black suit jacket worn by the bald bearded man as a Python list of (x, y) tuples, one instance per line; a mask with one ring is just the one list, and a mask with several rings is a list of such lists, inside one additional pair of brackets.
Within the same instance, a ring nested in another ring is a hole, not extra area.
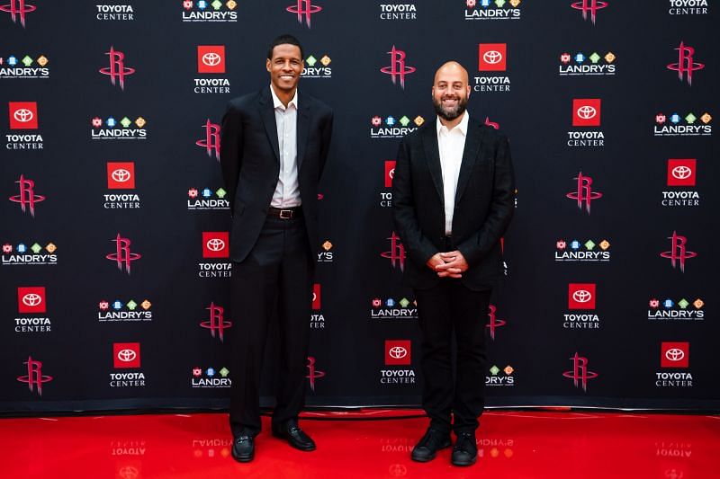
[[(402, 139), (392, 179), (393, 219), (410, 259), (405, 279), (412, 288), (441, 280), (426, 262), (446, 249), (444, 198), (436, 122), (428, 121)], [(461, 279), (467, 288), (488, 289), (500, 279), (500, 238), (514, 202), (508, 137), (470, 120), (453, 214), (453, 243), (469, 265)]]

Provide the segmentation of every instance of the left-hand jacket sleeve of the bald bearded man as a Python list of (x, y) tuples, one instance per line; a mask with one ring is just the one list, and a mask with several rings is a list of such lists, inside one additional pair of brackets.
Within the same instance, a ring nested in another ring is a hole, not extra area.
[(410, 172), (410, 151), (405, 139), (401, 141), (392, 177), (392, 219), (410, 259), (419, 266), (435, 255), (437, 248), (420, 230)]

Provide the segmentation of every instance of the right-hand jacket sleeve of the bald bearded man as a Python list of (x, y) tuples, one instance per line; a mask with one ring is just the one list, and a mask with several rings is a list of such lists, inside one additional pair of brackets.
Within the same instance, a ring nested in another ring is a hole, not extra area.
[(508, 229), (515, 211), (515, 174), (510, 158), (508, 137), (501, 137), (495, 151), (495, 175), (492, 182), (492, 198), (488, 217), (480, 230), (459, 244), (457, 249), (463, 253), (465, 261), (473, 267), (500, 241)]

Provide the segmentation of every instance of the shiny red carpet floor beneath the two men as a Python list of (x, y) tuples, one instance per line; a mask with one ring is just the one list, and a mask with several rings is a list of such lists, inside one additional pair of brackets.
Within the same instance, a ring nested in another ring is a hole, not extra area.
[[(373, 412), (370, 417), (408, 415)], [(411, 412), (416, 414), (418, 412)], [(327, 414), (314, 414), (327, 416)], [(338, 414), (349, 417), (353, 414)], [(367, 417), (367, 416), (365, 416)], [(720, 417), (580, 412), (486, 412), (475, 466), (450, 449), (417, 464), (410, 450), (426, 419), (304, 419), (318, 444), (303, 453), (273, 438), (269, 419), (255, 461), (229, 455), (226, 414), (0, 420), (3, 477), (717, 477)]]

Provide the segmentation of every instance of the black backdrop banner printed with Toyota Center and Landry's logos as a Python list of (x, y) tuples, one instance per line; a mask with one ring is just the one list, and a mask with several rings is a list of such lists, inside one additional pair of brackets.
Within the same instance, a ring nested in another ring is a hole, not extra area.
[(243, 312), (219, 124), (269, 83), (284, 32), (304, 46), (300, 88), (335, 111), (308, 404), (419, 404), (392, 173), (454, 59), (518, 180), (488, 404), (717, 408), (718, 9), (0, 0), (0, 410), (227, 406)]

